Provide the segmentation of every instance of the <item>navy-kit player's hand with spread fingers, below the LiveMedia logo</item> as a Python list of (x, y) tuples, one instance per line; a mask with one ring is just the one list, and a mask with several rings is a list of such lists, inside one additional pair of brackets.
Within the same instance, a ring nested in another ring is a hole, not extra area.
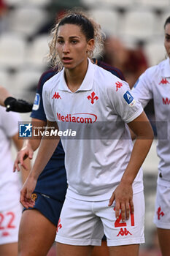
[(18, 151), (18, 154), (17, 154), (17, 157), (15, 159), (15, 162), (14, 162), (14, 167), (13, 167), (13, 172), (15, 172), (15, 170), (20, 170), (20, 165), (28, 170), (28, 167), (25, 165), (24, 163), (24, 160), (28, 157), (29, 159), (32, 159), (33, 158), (33, 154), (34, 154), (34, 151), (32, 150), (31, 147), (29, 146), (25, 146), (23, 148), (21, 148), (20, 151)]

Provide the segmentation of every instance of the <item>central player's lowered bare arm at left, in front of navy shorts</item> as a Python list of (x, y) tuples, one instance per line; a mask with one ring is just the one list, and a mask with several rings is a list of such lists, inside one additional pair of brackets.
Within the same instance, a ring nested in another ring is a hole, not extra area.
[[(47, 121), (46, 130), (50, 132), (53, 127), (54, 129), (58, 129), (57, 123), (55, 121)], [(20, 203), (22, 203), (24, 207), (28, 208), (34, 206), (34, 200), (31, 200), (31, 194), (36, 187), (36, 182), (40, 173), (42, 173), (42, 170), (50, 160), (55, 148), (58, 146), (59, 140), (60, 138), (55, 135), (50, 138), (46, 137), (46, 135), (42, 137), (34, 165), (20, 192)]]

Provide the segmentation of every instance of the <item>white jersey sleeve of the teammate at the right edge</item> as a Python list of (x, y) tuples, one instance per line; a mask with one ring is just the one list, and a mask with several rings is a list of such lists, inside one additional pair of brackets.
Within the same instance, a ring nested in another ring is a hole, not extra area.
[(143, 108), (152, 99), (152, 68), (147, 69), (136, 81), (132, 92), (134, 97), (141, 102)]

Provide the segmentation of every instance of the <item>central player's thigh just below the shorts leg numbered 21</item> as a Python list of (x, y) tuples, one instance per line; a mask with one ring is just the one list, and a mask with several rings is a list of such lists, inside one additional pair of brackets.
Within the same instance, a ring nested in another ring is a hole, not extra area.
[(130, 244), (124, 246), (110, 246), (109, 256), (138, 256), (139, 244)]

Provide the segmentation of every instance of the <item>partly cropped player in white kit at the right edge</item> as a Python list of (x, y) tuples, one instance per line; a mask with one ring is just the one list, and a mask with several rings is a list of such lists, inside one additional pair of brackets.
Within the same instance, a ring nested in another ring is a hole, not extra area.
[[(170, 17), (164, 24), (164, 46), (168, 58), (147, 69), (134, 86), (134, 95), (143, 106), (154, 101), (155, 121), (158, 133), (157, 193), (154, 222), (158, 227), (158, 239), (163, 256), (170, 253)], [(156, 54), (156, 53), (155, 53)]]

